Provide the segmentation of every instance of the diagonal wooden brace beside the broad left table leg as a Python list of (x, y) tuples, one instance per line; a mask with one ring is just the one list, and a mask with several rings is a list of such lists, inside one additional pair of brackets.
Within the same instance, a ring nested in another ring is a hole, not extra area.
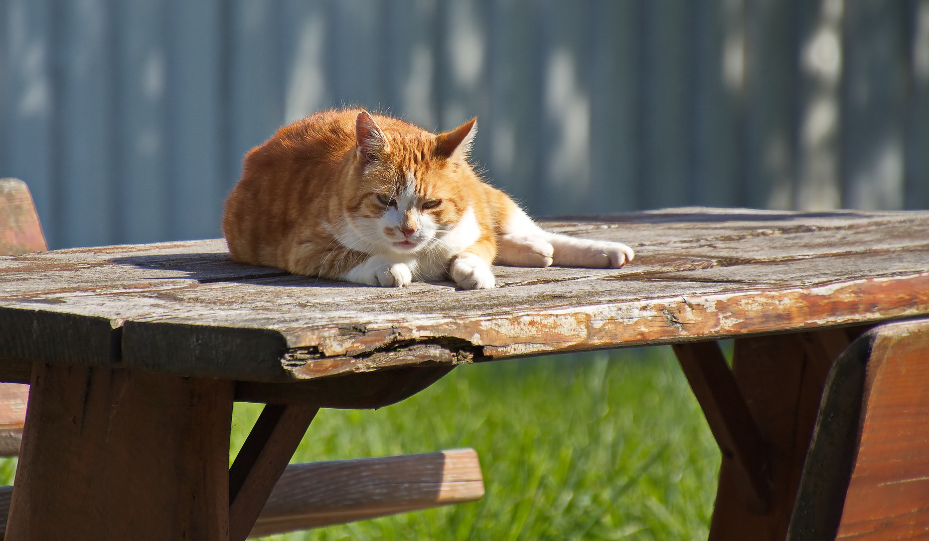
[(244, 541), (287, 468), (316, 406), (268, 404), (229, 468), (229, 541)]

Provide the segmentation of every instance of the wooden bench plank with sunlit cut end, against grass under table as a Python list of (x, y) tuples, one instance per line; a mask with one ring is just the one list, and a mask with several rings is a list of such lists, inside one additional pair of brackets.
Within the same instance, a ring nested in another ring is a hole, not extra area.
[(292, 464), (275, 485), (249, 537), (477, 501), (483, 496), (474, 449)]

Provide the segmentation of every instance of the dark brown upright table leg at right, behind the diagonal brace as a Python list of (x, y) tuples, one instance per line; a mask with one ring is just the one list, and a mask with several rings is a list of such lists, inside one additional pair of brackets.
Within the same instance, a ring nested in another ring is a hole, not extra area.
[(787, 535), (806, 449), (832, 361), (847, 345), (841, 329), (737, 339), (732, 371), (770, 444), (771, 496), (764, 514), (748, 509), (724, 461), (711, 541), (781, 541)]

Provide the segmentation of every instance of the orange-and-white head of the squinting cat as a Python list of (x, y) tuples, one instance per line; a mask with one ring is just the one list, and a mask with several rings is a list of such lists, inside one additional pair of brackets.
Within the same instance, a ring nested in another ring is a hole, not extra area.
[(382, 123), (386, 132), (367, 111), (356, 119), (347, 224), (354, 249), (402, 258), (435, 247), (467, 215), (473, 194), (465, 177), (477, 178), (467, 153), (477, 119), (439, 135)]

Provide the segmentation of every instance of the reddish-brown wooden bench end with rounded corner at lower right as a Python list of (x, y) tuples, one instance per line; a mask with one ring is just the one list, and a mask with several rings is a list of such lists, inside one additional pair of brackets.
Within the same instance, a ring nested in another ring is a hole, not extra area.
[(831, 367), (788, 539), (929, 536), (929, 319), (866, 332)]

